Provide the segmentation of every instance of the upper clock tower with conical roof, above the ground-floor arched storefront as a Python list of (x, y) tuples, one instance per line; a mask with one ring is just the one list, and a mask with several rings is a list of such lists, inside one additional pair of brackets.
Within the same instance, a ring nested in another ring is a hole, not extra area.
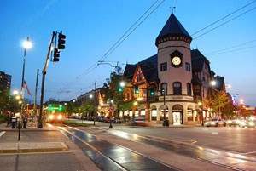
[[(160, 83), (167, 83), (166, 94), (192, 95), (192, 90), (189, 91), (187, 86), (188, 83), (191, 85), (192, 80), (191, 41), (192, 37), (176, 16), (171, 14), (155, 41), (158, 48), (158, 74)], [(179, 92), (176, 86), (180, 86)]]

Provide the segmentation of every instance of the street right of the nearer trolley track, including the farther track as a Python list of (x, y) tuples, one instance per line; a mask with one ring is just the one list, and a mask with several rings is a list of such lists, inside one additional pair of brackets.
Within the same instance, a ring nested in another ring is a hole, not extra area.
[[(177, 167), (177, 161), (172, 156), (175, 153), (193, 159), (200, 159), (205, 162), (204, 164), (207, 162), (221, 165), (223, 168), (252, 170), (252, 166), (256, 167), (256, 159), (254, 158), (256, 146), (253, 144), (255, 128), (194, 126), (144, 128), (113, 124), (113, 128), (109, 129), (109, 123), (96, 123), (96, 125), (97, 128), (82, 129), (86, 133), (101, 137), (103, 140), (124, 145), (132, 151), (146, 154), (146, 156), (157, 161), (163, 161), (162, 157), (170, 157), (172, 158), (171, 161), (166, 159), (164, 161), (172, 166)], [(144, 151), (143, 148), (147, 148), (147, 150)], [(184, 165), (184, 161), (182, 165)], [(189, 167), (190, 170), (193, 169), (191, 165)], [(210, 166), (210, 170), (214, 170), (212, 167)]]

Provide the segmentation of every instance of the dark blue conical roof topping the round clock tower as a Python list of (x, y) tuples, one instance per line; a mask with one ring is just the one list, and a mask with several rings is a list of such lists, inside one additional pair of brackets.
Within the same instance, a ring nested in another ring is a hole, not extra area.
[(160, 31), (160, 34), (156, 38), (155, 44), (158, 44), (158, 40), (161, 38), (169, 37), (169, 36), (183, 36), (189, 39), (191, 42), (192, 37), (190, 37), (188, 31), (182, 26), (182, 24), (177, 20), (174, 14), (171, 14), (169, 19), (166, 21), (166, 25)]

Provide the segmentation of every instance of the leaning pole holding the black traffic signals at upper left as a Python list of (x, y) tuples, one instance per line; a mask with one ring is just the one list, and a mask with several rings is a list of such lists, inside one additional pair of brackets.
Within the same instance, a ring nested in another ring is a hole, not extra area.
[(45, 80), (45, 75), (46, 75), (46, 69), (49, 63), (49, 54), (51, 52), (51, 47), (52, 47), (52, 43), (53, 40), (56, 36), (56, 32), (53, 31), (50, 42), (49, 42), (49, 49), (48, 49), (48, 53), (46, 56), (46, 60), (44, 63), (44, 69), (42, 71), (43, 73), (43, 77), (42, 77), (42, 88), (41, 88), (41, 99), (40, 99), (40, 111), (39, 111), (39, 118), (38, 118), (38, 128), (43, 128), (43, 105), (44, 105), (44, 80)]

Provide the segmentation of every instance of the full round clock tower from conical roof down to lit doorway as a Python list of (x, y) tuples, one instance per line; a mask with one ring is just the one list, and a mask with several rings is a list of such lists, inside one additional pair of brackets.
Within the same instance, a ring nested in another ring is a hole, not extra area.
[[(174, 14), (155, 40), (157, 46), (158, 77), (160, 79), (160, 120), (164, 116), (170, 124), (186, 124), (195, 111), (192, 90), (192, 62), (190, 43), (192, 37)], [(164, 104), (164, 105), (162, 105)]]

